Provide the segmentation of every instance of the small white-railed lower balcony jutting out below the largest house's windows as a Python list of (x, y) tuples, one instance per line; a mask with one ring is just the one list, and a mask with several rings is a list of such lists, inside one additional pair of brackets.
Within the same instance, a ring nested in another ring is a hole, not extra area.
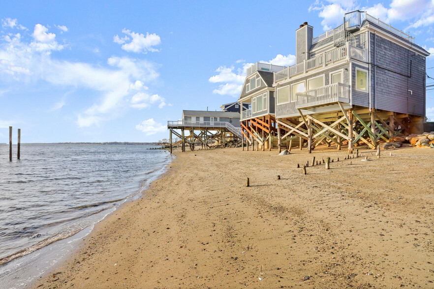
[(295, 107), (305, 109), (314, 106), (332, 104), (336, 102), (349, 103), (350, 86), (335, 83), (324, 87), (318, 87), (305, 92), (296, 93)]

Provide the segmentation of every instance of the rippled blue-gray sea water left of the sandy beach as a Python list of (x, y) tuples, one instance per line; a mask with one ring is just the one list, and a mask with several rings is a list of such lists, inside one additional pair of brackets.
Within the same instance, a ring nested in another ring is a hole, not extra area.
[[(0, 145), (0, 280), (26, 286), (72, 250), (77, 233), (139, 197), (171, 161), (151, 147), (22, 144), (21, 160), (15, 145), (9, 162), (9, 145)], [(30, 265), (38, 269), (27, 276)]]

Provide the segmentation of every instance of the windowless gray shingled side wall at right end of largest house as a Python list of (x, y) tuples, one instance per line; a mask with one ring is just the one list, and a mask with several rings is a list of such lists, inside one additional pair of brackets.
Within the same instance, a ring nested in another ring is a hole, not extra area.
[(374, 107), (425, 116), (425, 57), (376, 34), (371, 49)]

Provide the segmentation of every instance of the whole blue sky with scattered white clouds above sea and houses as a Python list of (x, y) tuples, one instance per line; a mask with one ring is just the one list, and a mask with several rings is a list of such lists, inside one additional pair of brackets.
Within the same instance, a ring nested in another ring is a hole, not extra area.
[[(434, 53), (434, 0), (7, 1), (0, 143), (9, 125), (26, 143), (167, 138), (167, 120), (183, 109), (235, 101), (250, 63), (294, 64), (300, 24), (308, 21), (317, 36), (356, 9)], [(427, 58), (434, 78), (432, 67), (434, 56)], [(434, 118), (434, 90), (427, 116)]]

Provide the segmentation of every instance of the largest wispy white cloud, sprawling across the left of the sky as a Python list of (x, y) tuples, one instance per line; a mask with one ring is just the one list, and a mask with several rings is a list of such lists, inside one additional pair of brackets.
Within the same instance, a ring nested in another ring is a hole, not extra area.
[[(50, 54), (51, 50), (60, 49), (56, 35), (42, 25), (35, 26), (31, 37), (23, 39), (17, 33), (0, 39), (0, 77), (9, 83), (45, 81), (57, 87), (87, 89), (98, 98), (78, 114), (79, 126), (98, 125), (116, 117), (123, 107), (129, 106), (128, 100), (134, 93), (147, 89), (145, 84), (158, 78), (155, 64), (145, 59), (111, 57), (107, 60), (108, 67), (57, 60)], [(156, 101), (150, 97), (148, 104), (161, 102), (164, 99)]]

